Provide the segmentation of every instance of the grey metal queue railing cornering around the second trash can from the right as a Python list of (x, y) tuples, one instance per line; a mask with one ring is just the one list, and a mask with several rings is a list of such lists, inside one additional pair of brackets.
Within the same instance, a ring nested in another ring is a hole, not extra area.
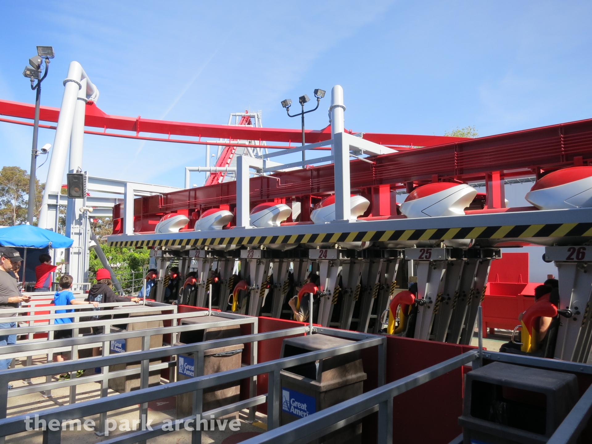
[[(255, 326), (255, 324), (253, 324)], [(189, 327), (189, 326), (186, 326)], [(134, 362), (141, 361), (141, 367), (143, 372), (141, 374), (141, 388), (140, 390), (128, 392), (124, 394), (118, 394), (110, 397), (102, 397), (96, 400), (85, 401), (83, 403), (76, 403), (70, 406), (63, 406), (60, 408), (52, 408), (48, 410), (42, 410), (38, 413), (39, 420), (57, 420), (60, 424), (62, 420), (79, 419), (83, 417), (92, 416), (95, 414), (101, 415), (99, 422), (99, 431), (96, 432), (98, 435), (102, 435), (105, 432), (105, 420), (107, 419), (107, 412), (111, 410), (118, 410), (123, 407), (130, 407), (140, 404), (140, 421), (141, 424), (146, 423), (147, 404), (150, 401), (159, 400), (163, 397), (174, 396), (187, 392), (193, 392), (194, 403), (192, 415), (181, 420), (176, 420), (176, 423), (183, 425), (189, 420), (195, 421), (197, 417), (208, 417), (214, 418), (224, 416), (236, 411), (249, 408), (252, 412), (250, 416), (252, 419), (255, 418), (255, 407), (259, 404), (268, 402), (268, 429), (275, 429), (279, 426), (279, 404), (281, 397), (281, 387), (279, 386), (279, 375), (282, 369), (289, 368), (291, 366), (300, 365), (307, 362), (314, 362), (318, 359), (329, 358), (331, 356), (342, 355), (345, 353), (354, 352), (356, 350), (362, 350), (370, 347), (378, 347), (378, 384), (384, 385), (385, 382), (385, 351), (386, 351), (386, 338), (384, 336), (375, 336), (372, 334), (347, 332), (345, 330), (327, 329), (323, 327), (314, 327), (314, 333), (330, 334), (331, 336), (343, 337), (345, 339), (355, 340), (347, 345), (337, 346), (330, 349), (319, 350), (316, 352), (304, 353), (302, 355), (291, 356), (289, 358), (276, 359), (274, 361), (268, 361), (263, 363), (254, 363), (249, 366), (243, 366), (242, 368), (233, 369), (226, 372), (221, 372), (211, 375), (203, 375), (203, 363), (205, 350), (226, 347), (230, 345), (236, 345), (239, 343), (252, 343), (252, 353), (256, 350), (256, 343), (260, 340), (275, 339), (279, 337), (294, 336), (295, 334), (303, 334), (310, 332), (309, 326), (295, 327), (287, 330), (277, 330), (268, 333), (255, 333), (248, 336), (239, 336), (229, 339), (213, 340), (208, 342), (194, 343), (190, 345), (181, 345), (168, 348), (166, 350), (148, 350), (143, 352), (132, 352), (127, 353), (127, 356), (105, 356), (102, 358), (91, 358), (83, 359), (78, 361), (76, 368), (92, 368), (95, 366), (108, 366), (114, 365), (115, 363), (126, 362), (133, 359)], [(137, 333), (137, 332), (134, 332)], [(150, 359), (162, 358), (165, 355), (174, 353), (187, 353), (193, 352), (197, 355), (195, 358), (196, 363), (196, 378), (186, 379), (184, 381), (170, 382), (166, 385), (159, 387), (148, 387), (148, 365)], [(36, 366), (33, 369), (28, 369), (29, 377), (36, 377), (43, 375), (47, 372), (44, 369), (47, 366)], [(62, 362), (54, 364), (52, 366), (52, 372), (56, 371), (71, 371), (72, 362)], [(23, 373), (21, 369), (11, 369), (5, 372), (0, 372), (0, 406), (4, 406), (7, 396), (4, 392), (5, 383), (14, 378), (21, 378)], [(216, 385), (227, 384), (229, 382), (240, 381), (241, 379), (250, 378), (255, 379), (257, 375), (269, 374), (268, 379), (268, 394), (259, 395), (255, 394), (255, 385), (251, 386), (250, 397), (247, 400), (239, 401), (229, 406), (223, 406), (215, 408), (207, 412), (202, 412), (202, 395), (204, 389), (215, 387)], [(2, 413), (3, 408), (0, 408)], [(21, 433), (26, 430), (25, 427), (25, 415), (0, 419), (0, 436), (14, 435), (15, 433)], [(122, 442), (122, 443), (136, 443), (144, 442), (152, 437), (165, 435), (169, 433), (169, 430), (163, 429), (163, 424), (156, 424), (152, 426), (152, 430), (139, 430), (137, 432), (131, 432), (126, 435), (118, 436), (117, 438), (105, 441), (105, 442)], [(61, 440), (61, 432), (57, 430), (54, 432), (47, 428), (44, 430), (44, 443), (47, 444), (58, 444)], [(201, 442), (201, 430), (192, 431), (192, 442)]]

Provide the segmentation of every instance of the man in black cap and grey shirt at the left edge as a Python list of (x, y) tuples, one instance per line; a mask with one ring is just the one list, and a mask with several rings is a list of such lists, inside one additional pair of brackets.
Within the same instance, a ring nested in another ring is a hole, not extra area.
[[(0, 329), (14, 329), (17, 327), (16, 313), (2, 313), (7, 308), (18, 308), (21, 302), (28, 302), (30, 297), (23, 296), (18, 291), (17, 279), (8, 274), (12, 267), (21, 262), (20, 253), (11, 247), (0, 251)], [(17, 343), (16, 334), (0, 334), (0, 347)], [(12, 359), (0, 359), (0, 370), (10, 367)]]

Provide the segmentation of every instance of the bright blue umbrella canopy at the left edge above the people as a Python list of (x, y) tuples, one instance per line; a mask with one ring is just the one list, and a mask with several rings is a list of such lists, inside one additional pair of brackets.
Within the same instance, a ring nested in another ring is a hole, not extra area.
[(0, 245), (25, 248), (69, 248), (74, 241), (62, 234), (33, 225), (0, 228)]

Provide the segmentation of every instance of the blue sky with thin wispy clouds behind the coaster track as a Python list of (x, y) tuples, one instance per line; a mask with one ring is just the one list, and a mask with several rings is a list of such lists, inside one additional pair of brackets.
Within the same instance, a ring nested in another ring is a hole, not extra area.
[[(590, 117), (591, 18), (583, 1), (2, 2), (0, 98), (34, 102), (21, 73), (41, 44), (56, 51), (43, 105), (60, 106), (77, 60), (108, 114), (224, 124), (249, 108), (298, 128), (279, 102), (340, 84), (355, 131), (487, 136)], [(0, 123), (0, 166), (28, 170), (31, 132)], [(86, 136), (83, 165), (182, 186), (205, 149)]]

